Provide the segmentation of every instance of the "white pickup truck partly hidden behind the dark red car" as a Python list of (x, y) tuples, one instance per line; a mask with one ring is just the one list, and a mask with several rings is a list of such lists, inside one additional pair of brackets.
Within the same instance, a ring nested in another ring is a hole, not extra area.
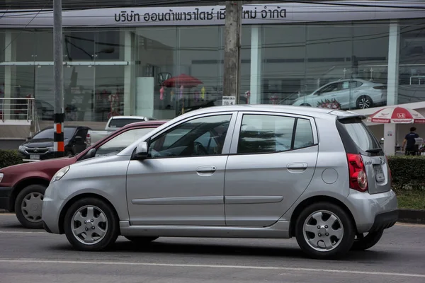
[(117, 129), (124, 127), (125, 125), (142, 122), (142, 121), (154, 121), (157, 120), (152, 117), (142, 117), (142, 116), (113, 116), (109, 118), (106, 123), (105, 130), (89, 130), (86, 135), (87, 145), (91, 146), (91, 144), (96, 144), (96, 142), (100, 141), (104, 137), (108, 136), (115, 132)]

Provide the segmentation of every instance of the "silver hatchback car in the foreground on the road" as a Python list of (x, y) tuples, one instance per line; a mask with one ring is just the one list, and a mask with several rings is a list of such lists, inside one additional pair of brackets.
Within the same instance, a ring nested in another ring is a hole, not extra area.
[(42, 221), (78, 250), (118, 236), (291, 238), (312, 258), (365, 250), (397, 221), (390, 168), (353, 112), (283, 105), (188, 112), (115, 156), (62, 168)]

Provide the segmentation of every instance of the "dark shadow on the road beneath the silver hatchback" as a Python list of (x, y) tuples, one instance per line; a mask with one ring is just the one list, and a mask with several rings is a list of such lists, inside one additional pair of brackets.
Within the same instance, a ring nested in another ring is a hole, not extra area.
[[(69, 244), (50, 246), (50, 249), (61, 250), (63, 252), (76, 253), (76, 250)], [(78, 252), (77, 252), (78, 253)], [(94, 252), (96, 253), (96, 252)], [(100, 253), (100, 252), (99, 252)], [(248, 246), (243, 244), (223, 244), (223, 243), (170, 243), (166, 238), (159, 238), (157, 241), (147, 244), (137, 244), (131, 241), (117, 241), (110, 250), (101, 252), (111, 253), (111, 255), (135, 255), (140, 253), (172, 254), (172, 255), (227, 255), (241, 257), (266, 257), (266, 258), (295, 258), (308, 259), (305, 253), (297, 246)], [(90, 253), (92, 254), (92, 253)], [(397, 253), (387, 251), (351, 251), (344, 258), (338, 261), (350, 262), (374, 262), (397, 257)]]

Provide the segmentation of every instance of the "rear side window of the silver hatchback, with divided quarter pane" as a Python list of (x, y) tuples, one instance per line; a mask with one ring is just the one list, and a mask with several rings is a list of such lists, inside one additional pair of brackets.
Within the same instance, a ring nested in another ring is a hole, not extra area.
[(244, 115), (237, 153), (272, 153), (301, 149), (313, 144), (310, 120), (275, 115)]

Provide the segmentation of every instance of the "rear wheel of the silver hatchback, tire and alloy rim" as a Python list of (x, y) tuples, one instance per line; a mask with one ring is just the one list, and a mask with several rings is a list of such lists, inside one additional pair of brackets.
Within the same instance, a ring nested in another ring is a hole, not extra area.
[(295, 236), (300, 248), (311, 258), (334, 259), (348, 253), (355, 232), (344, 209), (329, 202), (318, 202), (298, 216)]

